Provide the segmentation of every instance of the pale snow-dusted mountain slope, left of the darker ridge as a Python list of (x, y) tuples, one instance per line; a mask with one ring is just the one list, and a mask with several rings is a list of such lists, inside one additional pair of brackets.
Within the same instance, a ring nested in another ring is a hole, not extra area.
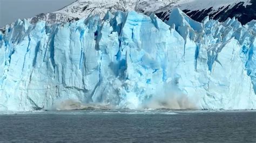
[(178, 0), (78, 0), (65, 8), (53, 13), (46, 13), (32, 18), (32, 22), (37, 22), (39, 19), (49, 23), (68, 22), (78, 20), (89, 15), (99, 15), (103, 18), (107, 11), (132, 11), (143, 13), (151, 13), (165, 5), (168, 5)]

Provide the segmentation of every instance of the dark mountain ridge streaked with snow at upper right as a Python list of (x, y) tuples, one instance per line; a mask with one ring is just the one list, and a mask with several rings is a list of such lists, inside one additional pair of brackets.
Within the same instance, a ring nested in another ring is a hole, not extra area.
[(176, 7), (198, 22), (201, 22), (206, 16), (219, 22), (224, 22), (228, 17), (236, 17), (241, 24), (256, 19), (255, 0), (186, 0), (166, 5), (154, 13), (160, 19), (168, 20), (170, 11)]

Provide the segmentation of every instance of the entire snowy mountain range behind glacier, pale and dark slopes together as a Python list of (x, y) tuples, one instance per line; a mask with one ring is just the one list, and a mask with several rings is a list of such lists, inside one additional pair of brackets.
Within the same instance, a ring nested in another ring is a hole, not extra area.
[(78, 0), (53, 13), (33, 17), (32, 23), (39, 19), (48, 23), (70, 22), (89, 15), (103, 18), (107, 11), (137, 11), (145, 15), (155, 13), (160, 19), (168, 20), (173, 8), (183, 10), (192, 19), (201, 22), (207, 15), (224, 22), (228, 17), (237, 17), (242, 24), (256, 19), (255, 0)]

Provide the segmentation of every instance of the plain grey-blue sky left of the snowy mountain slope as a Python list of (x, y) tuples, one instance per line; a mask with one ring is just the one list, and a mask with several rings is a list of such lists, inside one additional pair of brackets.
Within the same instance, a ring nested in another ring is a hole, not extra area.
[(57, 11), (75, 0), (0, 0), (0, 27), (18, 18)]

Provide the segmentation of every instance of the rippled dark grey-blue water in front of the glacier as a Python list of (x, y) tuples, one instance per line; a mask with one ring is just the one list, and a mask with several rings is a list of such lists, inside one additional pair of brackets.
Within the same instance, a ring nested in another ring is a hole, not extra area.
[(256, 112), (70, 111), (0, 115), (1, 141), (256, 142)]

